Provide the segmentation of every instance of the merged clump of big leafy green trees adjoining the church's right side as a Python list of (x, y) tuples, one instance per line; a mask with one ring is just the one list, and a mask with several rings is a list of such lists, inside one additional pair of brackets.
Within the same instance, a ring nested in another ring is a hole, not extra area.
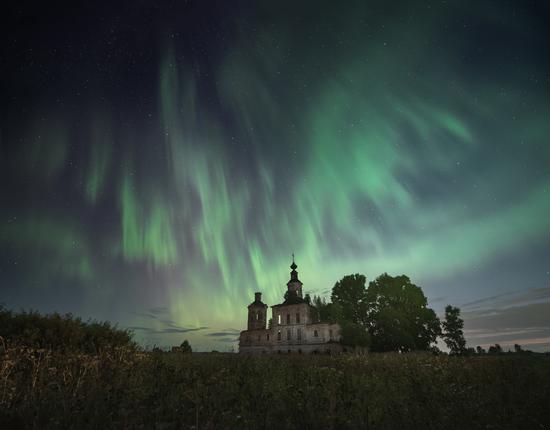
[(430, 350), (441, 334), (439, 318), (422, 289), (405, 276), (382, 274), (365, 287), (364, 275), (344, 276), (331, 300), (313, 298), (319, 321), (338, 322), (343, 343), (373, 351)]

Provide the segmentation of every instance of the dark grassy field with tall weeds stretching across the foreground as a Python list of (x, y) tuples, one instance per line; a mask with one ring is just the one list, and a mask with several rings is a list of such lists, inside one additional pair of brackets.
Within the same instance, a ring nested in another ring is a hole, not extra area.
[(550, 357), (0, 354), (0, 428), (550, 428)]

